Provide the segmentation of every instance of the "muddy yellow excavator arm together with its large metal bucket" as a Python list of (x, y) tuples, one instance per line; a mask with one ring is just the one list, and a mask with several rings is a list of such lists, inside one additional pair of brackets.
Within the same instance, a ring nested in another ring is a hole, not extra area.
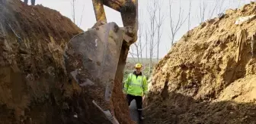
[[(66, 71), (87, 92), (91, 104), (110, 122), (118, 124), (115, 97), (122, 93), (126, 58), (130, 45), (137, 39), (138, 1), (92, 0), (92, 3), (97, 23), (66, 45)], [(124, 27), (107, 23), (104, 5), (120, 12)]]

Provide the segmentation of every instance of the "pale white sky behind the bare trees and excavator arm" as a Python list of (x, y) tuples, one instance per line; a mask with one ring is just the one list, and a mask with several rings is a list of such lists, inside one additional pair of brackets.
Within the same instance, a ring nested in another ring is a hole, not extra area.
[[(149, 12), (148, 6), (153, 0), (139, 0), (139, 23), (142, 25), (143, 32), (149, 27)], [(200, 24), (200, 5), (204, 5), (206, 8), (205, 20), (212, 15), (213, 8), (218, 5), (218, 8), (213, 11), (213, 17), (216, 17), (219, 13), (224, 12), (226, 9), (240, 8), (242, 5), (248, 4), (255, 0), (156, 0), (161, 5), (161, 14), (164, 15), (164, 21), (162, 23), (162, 37), (159, 44), (159, 57), (164, 57), (165, 54), (171, 49), (171, 26), (170, 26), (170, 13), (169, 3), (171, 1), (171, 18), (174, 23), (177, 23), (179, 10), (183, 11), (181, 17), (186, 19), (190, 10), (190, 29)], [(190, 7), (191, 2), (191, 8)], [(29, 0), (30, 4), (30, 0)], [(59, 11), (60, 14), (72, 19), (72, 0), (36, 0), (36, 5), (43, 5), (47, 8), (52, 8)], [(107, 15), (107, 22), (115, 22), (118, 26), (123, 26), (120, 13), (114, 11), (111, 8), (104, 6)], [(75, 0), (75, 23), (84, 31), (96, 23), (94, 16), (94, 10), (91, 0)], [(188, 20), (184, 21), (181, 29), (178, 30), (177, 35), (174, 37), (174, 41), (178, 41), (188, 31)], [(145, 35), (142, 35), (142, 43), (145, 43)], [(131, 52), (134, 51), (134, 45)], [(131, 57), (131, 55), (129, 55)], [(146, 57), (146, 48), (142, 51), (142, 56)], [(149, 57), (149, 55), (148, 55)], [(154, 49), (153, 57), (156, 57), (156, 48)]]

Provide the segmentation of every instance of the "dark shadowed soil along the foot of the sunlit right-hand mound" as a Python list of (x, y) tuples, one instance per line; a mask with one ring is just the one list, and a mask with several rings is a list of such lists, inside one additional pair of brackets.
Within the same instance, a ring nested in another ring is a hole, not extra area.
[[(145, 124), (242, 124), (256, 122), (256, 104), (234, 101), (201, 102), (192, 97), (169, 92), (168, 98), (150, 99), (145, 110)], [(164, 100), (165, 99), (165, 100)], [(153, 104), (152, 104), (153, 103)]]

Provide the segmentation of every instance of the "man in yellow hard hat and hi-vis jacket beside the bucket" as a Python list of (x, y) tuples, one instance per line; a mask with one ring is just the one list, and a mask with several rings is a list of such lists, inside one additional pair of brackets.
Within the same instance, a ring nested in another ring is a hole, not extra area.
[(148, 82), (146, 76), (142, 76), (142, 65), (135, 65), (136, 71), (130, 73), (124, 83), (123, 93), (126, 94), (128, 105), (130, 106), (133, 99), (136, 100), (136, 106), (139, 113), (139, 119), (142, 117), (142, 97), (148, 93)]

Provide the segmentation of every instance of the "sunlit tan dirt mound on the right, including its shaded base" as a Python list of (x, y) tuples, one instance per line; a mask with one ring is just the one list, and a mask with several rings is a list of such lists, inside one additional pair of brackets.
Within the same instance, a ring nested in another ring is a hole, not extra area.
[[(256, 2), (228, 10), (190, 30), (171, 48), (151, 79), (149, 123), (256, 121), (255, 10)], [(245, 21), (238, 22), (239, 17)]]

